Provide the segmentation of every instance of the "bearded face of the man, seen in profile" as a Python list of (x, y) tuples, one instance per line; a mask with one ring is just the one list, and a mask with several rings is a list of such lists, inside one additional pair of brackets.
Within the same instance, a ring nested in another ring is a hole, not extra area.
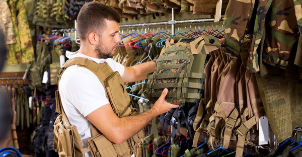
[(112, 58), (117, 43), (121, 41), (119, 36), (119, 26), (115, 21), (105, 19), (106, 26), (99, 35), (99, 44), (96, 47), (98, 58)]

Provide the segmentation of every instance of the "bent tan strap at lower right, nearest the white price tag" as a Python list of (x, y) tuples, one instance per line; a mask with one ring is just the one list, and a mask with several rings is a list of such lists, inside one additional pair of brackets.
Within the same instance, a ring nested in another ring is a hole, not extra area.
[(238, 135), (236, 157), (240, 157), (244, 151), (247, 132), (256, 124), (256, 118), (253, 116), (248, 121), (243, 123), (236, 131)]

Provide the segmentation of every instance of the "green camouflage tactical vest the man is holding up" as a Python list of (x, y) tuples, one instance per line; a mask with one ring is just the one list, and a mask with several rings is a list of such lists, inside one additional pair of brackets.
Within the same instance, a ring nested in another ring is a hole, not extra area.
[(173, 104), (196, 103), (202, 98), (206, 53), (200, 53), (203, 38), (192, 41), (185, 37), (169, 38), (157, 60), (156, 70), (147, 75), (146, 95), (157, 99), (167, 88), (166, 101)]

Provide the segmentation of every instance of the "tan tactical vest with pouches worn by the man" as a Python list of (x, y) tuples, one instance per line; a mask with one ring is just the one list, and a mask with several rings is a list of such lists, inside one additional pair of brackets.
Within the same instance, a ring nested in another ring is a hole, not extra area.
[[(82, 57), (69, 59), (60, 69), (60, 76), (57, 77), (58, 85), (64, 70), (68, 66), (76, 64), (88, 68), (98, 76), (106, 90), (106, 97), (118, 117), (137, 114), (135, 109), (128, 107), (130, 99), (120, 74), (117, 71), (114, 72), (107, 62), (98, 64)], [(141, 130), (128, 140), (115, 144), (91, 124), (92, 137), (87, 140), (88, 147), (84, 148), (77, 128), (74, 125), (70, 125), (65, 115), (58, 90), (56, 91), (56, 112), (59, 115), (54, 123), (53, 147), (59, 153), (59, 156), (85, 156), (84, 153), (89, 151), (92, 156), (131, 156), (131, 154), (136, 153), (144, 136)]]

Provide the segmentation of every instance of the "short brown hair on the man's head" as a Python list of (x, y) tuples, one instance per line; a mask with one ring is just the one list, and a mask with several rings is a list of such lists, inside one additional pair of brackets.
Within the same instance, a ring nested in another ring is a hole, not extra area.
[(105, 19), (120, 22), (120, 16), (113, 8), (99, 2), (85, 4), (77, 18), (77, 32), (80, 39), (86, 40), (86, 36), (91, 32), (101, 35), (101, 31), (105, 27)]

